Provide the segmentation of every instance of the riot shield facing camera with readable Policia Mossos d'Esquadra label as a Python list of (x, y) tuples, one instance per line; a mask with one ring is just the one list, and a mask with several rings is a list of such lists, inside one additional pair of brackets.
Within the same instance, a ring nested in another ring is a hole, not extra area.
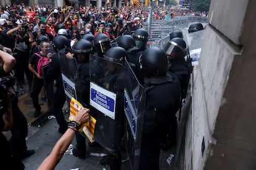
[(124, 127), (124, 66), (90, 55), (90, 114), (94, 140), (116, 155)]

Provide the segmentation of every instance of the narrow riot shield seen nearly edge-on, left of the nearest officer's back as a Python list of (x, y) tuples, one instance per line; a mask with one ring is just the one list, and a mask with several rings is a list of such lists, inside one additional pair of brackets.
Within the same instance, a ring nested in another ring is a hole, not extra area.
[(130, 168), (139, 169), (145, 96), (143, 86), (140, 85), (127, 60), (124, 73), (124, 113), (126, 115), (124, 144), (129, 156)]

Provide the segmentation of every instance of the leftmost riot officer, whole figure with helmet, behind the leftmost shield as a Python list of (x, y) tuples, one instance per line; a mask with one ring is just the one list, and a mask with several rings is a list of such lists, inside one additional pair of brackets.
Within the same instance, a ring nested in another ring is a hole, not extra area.
[[(56, 80), (56, 91), (53, 95), (53, 113), (56, 117), (56, 121), (59, 124), (59, 133), (64, 134), (67, 130), (67, 122), (64, 118), (64, 115), (62, 113), (62, 108), (64, 106), (64, 103), (66, 102), (64, 87), (62, 83), (62, 76), (61, 76), (61, 68), (59, 65), (59, 56), (65, 57), (64, 53), (58, 51), (62, 51), (63, 48), (69, 47), (69, 39), (67, 39), (64, 36), (55, 36), (53, 39), (55, 52), (53, 56), (51, 57), (51, 64), (49, 65), (49, 68), (45, 74), (45, 81), (46, 83), (52, 83), (54, 80)], [(59, 56), (58, 56), (59, 55)]]

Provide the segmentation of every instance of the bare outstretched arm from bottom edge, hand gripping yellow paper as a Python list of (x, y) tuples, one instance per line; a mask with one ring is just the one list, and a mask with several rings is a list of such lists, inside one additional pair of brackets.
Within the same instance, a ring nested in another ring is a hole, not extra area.
[[(76, 121), (78, 124), (85, 123), (85, 121), (87, 121), (89, 118), (89, 111), (90, 110), (88, 108), (82, 108), (77, 113), (77, 115), (75, 115), (74, 121)], [(69, 147), (71, 144), (74, 136), (75, 130), (68, 128), (67, 131), (58, 140), (50, 155), (47, 156), (43, 163), (40, 164), (38, 170), (54, 169), (64, 155), (67, 147)]]

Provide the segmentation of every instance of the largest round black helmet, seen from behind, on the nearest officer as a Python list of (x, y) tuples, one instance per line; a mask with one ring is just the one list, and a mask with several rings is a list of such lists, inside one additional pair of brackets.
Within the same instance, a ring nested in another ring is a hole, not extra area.
[(164, 76), (168, 70), (168, 58), (158, 47), (146, 49), (140, 57), (140, 64), (146, 77)]

